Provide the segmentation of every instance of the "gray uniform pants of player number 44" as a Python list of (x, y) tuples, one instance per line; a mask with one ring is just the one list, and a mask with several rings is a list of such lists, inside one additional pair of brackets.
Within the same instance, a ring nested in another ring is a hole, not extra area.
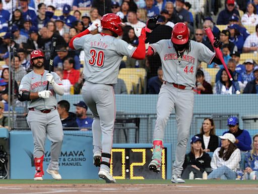
[[(192, 90), (175, 88), (171, 84), (162, 84), (157, 102), (157, 120), (154, 139), (164, 139), (165, 127), (169, 115), (175, 109), (177, 122), (176, 158), (173, 174), (181, 174), (189, 138), (193, 113), (194, 93)], [(172, 129), (173, 130), (173, 129)]]

